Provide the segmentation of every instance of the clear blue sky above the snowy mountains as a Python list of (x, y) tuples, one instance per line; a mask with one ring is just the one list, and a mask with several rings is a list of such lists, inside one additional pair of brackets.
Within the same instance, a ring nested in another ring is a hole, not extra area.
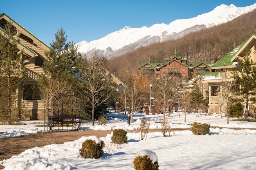
[(246, 7), (255, 0), (4, 0), (5, 13), (49, 45), (63, 28), (68, 41), (98, 40), (125, 26), (139, 28), (193, 18), (220, 4)]

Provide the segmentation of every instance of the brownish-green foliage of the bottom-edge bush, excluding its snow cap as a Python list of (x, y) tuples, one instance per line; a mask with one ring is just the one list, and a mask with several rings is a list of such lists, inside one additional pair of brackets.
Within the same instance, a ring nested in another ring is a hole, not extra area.
[(138, 156), (133, 160), (133, 167), (135, 170), (158, 170), (158, 162), (154, 163), (148, 158), (147, 155), (144, 157)]

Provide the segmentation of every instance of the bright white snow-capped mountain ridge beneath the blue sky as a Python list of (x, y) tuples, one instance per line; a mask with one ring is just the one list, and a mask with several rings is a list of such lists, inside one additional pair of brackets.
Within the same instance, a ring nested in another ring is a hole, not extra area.
[(175, 20), (170, 24), (154, 24), (151, 27), (131, 28), (125, 26), (119, 31), (106, 35), (91, 42), (82, 41), (76, 44), (80, 53), (89, 54), (98, 51), (107, 58), (122, 55), (141, 46), (181, 38), (182, 36), (206, 29), (218, 24), (229, 22), (240, 15), (256, 9), (256, 3), (247, 7), (236, 7), (233, 4), (222, 4), (209, 13), (194, 18)]

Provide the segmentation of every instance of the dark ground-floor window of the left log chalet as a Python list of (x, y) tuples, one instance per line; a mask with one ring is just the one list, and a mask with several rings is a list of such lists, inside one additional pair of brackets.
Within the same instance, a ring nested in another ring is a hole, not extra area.
[(27, 85), (23, 91), (23, 99), (25, 100), (33, 100), (40, 99), (40, 90), (34, 85)]

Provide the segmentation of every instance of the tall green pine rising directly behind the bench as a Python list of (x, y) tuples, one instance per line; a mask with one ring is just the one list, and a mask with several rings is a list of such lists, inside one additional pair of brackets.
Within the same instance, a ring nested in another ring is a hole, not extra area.
[(73, 42), (67, 42), (65, 31), (61, 28), (55, 34), (56, 40), (45, 53), (44, 74), (38, 78), (41, 97), (52, 114), (68, 114), (75, 103), (75, 82), (80, 71), (81, 55)]

